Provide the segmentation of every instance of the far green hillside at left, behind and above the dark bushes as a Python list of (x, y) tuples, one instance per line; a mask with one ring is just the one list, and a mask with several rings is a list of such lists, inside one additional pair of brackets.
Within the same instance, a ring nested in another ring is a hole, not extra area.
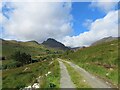
[[(51, 60), (57, 55), (60, 55), (63, 51), (46, 48), (44, 45), (37, 43), (36, 41), (20, 42), (15, 40), (1, 40), (0, 44), (1, 53), (0, 60), (2, 58), (2, 66), (0, 69), (16, 68), (18, 62), (13, 60), (15, 53), (29, 54), (32, 60), (42, 61)], [(32, 61), (34, 62), (34, 61)]]

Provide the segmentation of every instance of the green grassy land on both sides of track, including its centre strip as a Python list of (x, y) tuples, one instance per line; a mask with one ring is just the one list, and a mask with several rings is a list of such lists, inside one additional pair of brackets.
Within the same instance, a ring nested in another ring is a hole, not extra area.
[[(36, 41), (18, 42), (15, 40), (2, 40), (2, 52), (3, 56), (6, 57), (6, 60), (2, 61), (3, 87), (24, 88), (34, 84), (37, 77), (42, 75), (41, 87), (49, 88), (51, 83), (55, 84), (56, 87), (60, 87), (60, 66), (58, 64), (59, 59), (56, 60), (56, 55), (61, 56), (61, 54), (63, 54), (61, 57), (63, 60), (75, 63), (93, 76), (109, 82), (113, 85), (112, 87), (117, 87), (118, 43), (120, 44), (120, 40), (112, 40), (95, 46), (77, 49), (75, 52), (67, 50), (65, 53), (62, 53), (60, 50), (56, 51), (57, 49), (47, 48)], [(11, 58), (11, 55), (16, 51), (28, 53), (32, 56), (32, 59), (36, 58), (39, 62), (17, 67), (15, 66), (16, 62)], [(42, 61), (41, 57), (43, 57)], [(65, 66), (67, 66), (70, 77), (77, 87), (90, 87), (89, 83), (82, 82), (85, 77), (82, 77), (81, 73), (75, 71), (67, 64)], [(46, 77), (46, 73), (50, 71), (51, 74)]]

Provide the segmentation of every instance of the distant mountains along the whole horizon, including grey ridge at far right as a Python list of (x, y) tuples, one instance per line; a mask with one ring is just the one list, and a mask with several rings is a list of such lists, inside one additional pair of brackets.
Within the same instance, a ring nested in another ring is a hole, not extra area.
[[(110, 42), (112, 40), (117, 40), (119, 37), (105, 37), (103, 39), (100, 39), (94, 43), (91, 44), (91, 46), (94, 46), (94, 45), (98, 45), (98, 44), (102, 44), (102, 43), (105, 43), (105, 42)], [(48, 38), (46, 41), (44, 41), (43, 43), (38, 43), (37, 41), (27, 41), (27, 42), (22, 42), (22, 41), (16, 41), (16, 40), (4, 40), (4, 39), (0, 39), (0, 41), (3, 41), (2, 43), (4, 42), (11, 42), (13, 44), (21, 44), (21, 45), (26, 45), (26, 46), (45, 46), (46, 48), (53, 48), (53, 49), (60, 49), (60, 50), (78, 50), (80, 48), (84, 48), (84, 46), (81, 46), (81, 47), (75, 47), (75, 48), (70, 48), (70, 47), (67, 47), (65, 46), (64, 44), (56, 41), (55, 39), (52, 39), (52, 38)], [(1, 42), (0, 42), (1, 43)]]

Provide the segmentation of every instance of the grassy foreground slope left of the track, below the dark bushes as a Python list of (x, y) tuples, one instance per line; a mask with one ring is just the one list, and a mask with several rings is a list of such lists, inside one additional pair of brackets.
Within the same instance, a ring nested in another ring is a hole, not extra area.
[[(23, 88), (36, 82), (36, 78), (43, 76), (41, 79), (42, 88), (50, 88), (49, 84), (53, 83), (58, 88), (60, 80), (60, 69), (57, 61), (49, 65), (51, 61), (44, 61), (25, 65), (16, 69), (3, 71), (3, 88)], [(25, 68), (28, 70), (24, 71)], [(51, 74), (45, 76), (50, 71)]]

